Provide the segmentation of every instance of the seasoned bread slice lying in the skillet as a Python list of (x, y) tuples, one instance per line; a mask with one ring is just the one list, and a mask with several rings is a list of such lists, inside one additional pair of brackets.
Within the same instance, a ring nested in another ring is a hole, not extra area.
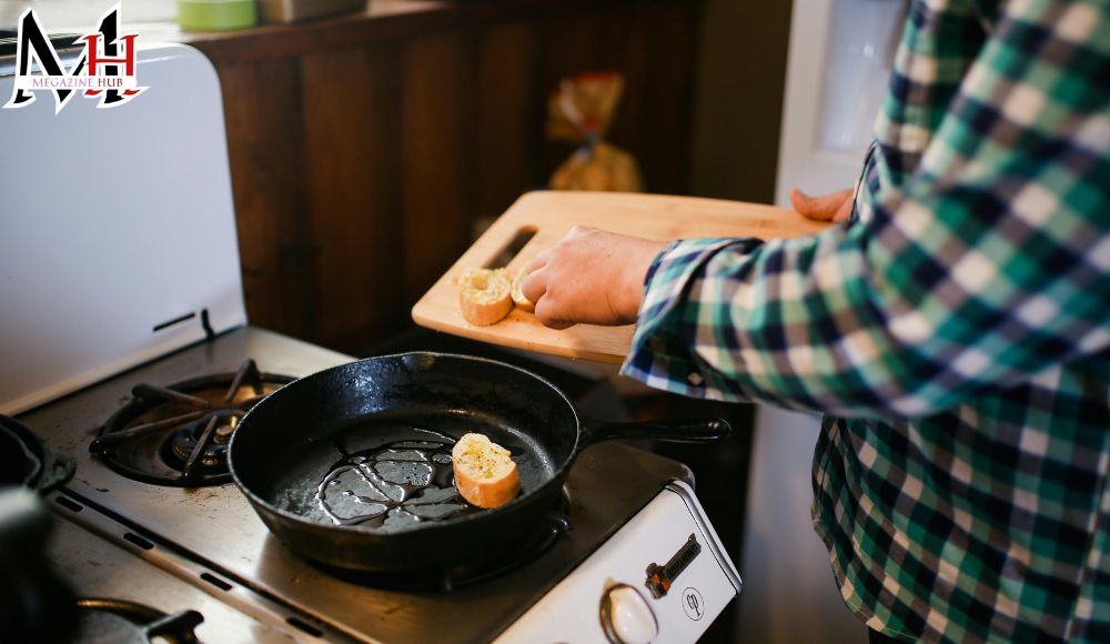
[(521, 476), (509, 451), (485, 434), (464, 434), (451, 450), (455, 487), (468, 503), (497, 507), (516, 497)]

